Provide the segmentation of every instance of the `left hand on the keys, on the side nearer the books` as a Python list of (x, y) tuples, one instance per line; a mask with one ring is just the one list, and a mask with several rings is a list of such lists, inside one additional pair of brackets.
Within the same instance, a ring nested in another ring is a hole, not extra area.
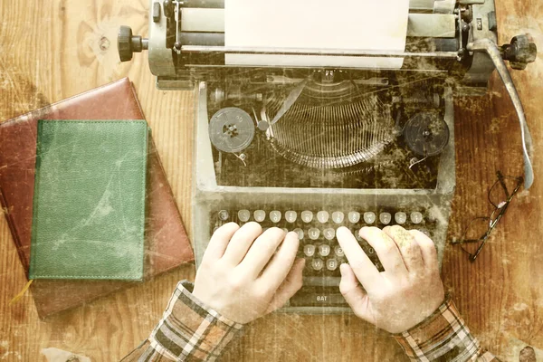
[[(298, 234), (229, 223), (211, 237), (193, 295), (224, 317), (248, 323), (280, 308), (301, 288)], [(277, 253), (274, 252), (277, 251)]]

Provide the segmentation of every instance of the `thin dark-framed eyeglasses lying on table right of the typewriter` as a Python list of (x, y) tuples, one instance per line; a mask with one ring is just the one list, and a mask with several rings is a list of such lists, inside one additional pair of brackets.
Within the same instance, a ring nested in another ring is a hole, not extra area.
[(498, 180), (491, 186), (488, 194), (489, 202), (494, 207), (491, 215), (474, 218), (462, 233), (462, 238), (451, 242), (460, 244), (462, 251), (469, 255), (470, 262), (475, 262), (482, 247), (491, 236), (492, 230), (505, 214), (513, 196), (519, 192), (524, 182), (522, 177), (503, 176), (500, 171), (497, 171), (496, 175)]

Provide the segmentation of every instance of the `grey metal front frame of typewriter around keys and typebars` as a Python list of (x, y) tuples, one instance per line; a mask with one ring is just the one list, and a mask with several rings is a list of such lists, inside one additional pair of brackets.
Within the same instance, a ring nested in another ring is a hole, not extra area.
[[(452, 90), (444, 90), (444, 120), (450, 130), (448, 145), (440, 155), (435, 189), (342, 189), (238, 187), (216, 184), (212, 144), (208, 135), (207, 83), (202, 81), (195, 90), (195, 146), (192, 226), (196, 267), (202, 262), (211, 238), (211, 210), (261, 209), (271, 205), (289, 205), (293, 209), (320, 210), (323, 207), (360, 209), (376, 207), (423, 207), (436, 221), (433, 242), (438, 260), (443, 260), (446, 233), (455, 188), (454, 124)], [(258, 201), (255, 201), (258, 200)], [(326, 278), (326, 277), (323, 277)], [(280, 311), (303, 314), (335, 314), (351, 312), (345, 307), (291, 307), (288, 303)]]

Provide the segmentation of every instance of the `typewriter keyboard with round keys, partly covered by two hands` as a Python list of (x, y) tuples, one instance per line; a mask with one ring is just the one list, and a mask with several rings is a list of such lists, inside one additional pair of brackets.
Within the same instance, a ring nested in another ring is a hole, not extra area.
[(399, 224), (432, 237), (434, 222), (424, 210), (220, 210), (212, 214), (213, 232), (221, 225), (251, 221), (266, 230), (279, 227), (300, 239), (298, 256), (306, 259), (304, 287), (291, 298), (291, 306), (345, 306), (338, 294), (339, 265), (348, 262), (336, 239), (336, 230), (346, 226), (379, 271), (383, 266), (374, 249), (360, 236), (363, 226), (383, 228)]

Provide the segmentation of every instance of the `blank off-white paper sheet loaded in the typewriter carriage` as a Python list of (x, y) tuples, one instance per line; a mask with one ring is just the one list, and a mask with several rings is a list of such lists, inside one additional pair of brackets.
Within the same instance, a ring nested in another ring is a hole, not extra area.
[[(409, 0), (225, 0), (224, 44), (405, 50)], [(226, 54), (230, 65), (401, 68), (402, 58)]]

